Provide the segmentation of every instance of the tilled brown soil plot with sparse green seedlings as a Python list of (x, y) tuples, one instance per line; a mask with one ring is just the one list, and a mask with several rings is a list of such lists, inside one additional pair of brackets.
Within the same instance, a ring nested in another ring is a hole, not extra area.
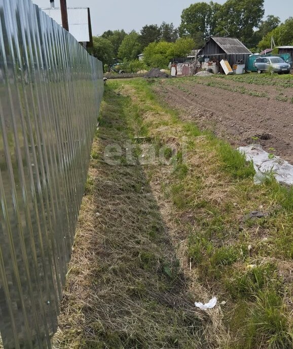
[[(185, 109), (186, 120), (195, 120), (200, 127), (212, 129), (229, 139), (232, 145), (260, 143), (267, 151), (275, 149), (276, 155), (293, 163), (292, 103), (205, 86), (200, 82), (207, 81), (178, 79), (173, 85), (165, 81), (156, 91), (172, 107)], [(250, 84), (245, 87), (257, 91), (262, 88)], [(275, 86), (266, 86), (264, 90), (274, 95), (275, 89)], [(290, 94), (291, 89), (288, 91)]]

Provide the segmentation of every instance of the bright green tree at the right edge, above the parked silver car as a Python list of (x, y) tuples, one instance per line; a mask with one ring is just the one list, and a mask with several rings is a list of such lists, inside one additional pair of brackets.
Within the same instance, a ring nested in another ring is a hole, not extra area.
[(274, 38), (277, 46), (293, 45), (293, 17), (289, 17), (284, 23), (268, 32), (259, 43), (260, 50), (271, 47), (271, 39)]

